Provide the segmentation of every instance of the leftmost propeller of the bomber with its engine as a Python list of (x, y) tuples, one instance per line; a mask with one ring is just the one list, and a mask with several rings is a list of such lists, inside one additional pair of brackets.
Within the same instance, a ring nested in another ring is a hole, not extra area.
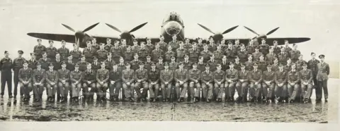
[(64, 25), (62, 24), (64, 27), (66, 27), (67, 29), (71, 30), (72, 32), (74, 32), (74, 41), (76, 44), (78, 44), (79, 47), (81, 48), (85, 48), (86, 47), (86, 44), (79, 44), (81, 43), (85, 37), (90, 37), (89, 35), (87, 35), (85, 32), (91, 30), (92, 28), (96, 27), (99, 23), (96, 23), (94, 25), (91, 25), (89, 27), (86, 27), (86, 29), (84, 29), (83, 31), (81, 30), (74, 30), (72, 27), (69, 27), (69, 25)]

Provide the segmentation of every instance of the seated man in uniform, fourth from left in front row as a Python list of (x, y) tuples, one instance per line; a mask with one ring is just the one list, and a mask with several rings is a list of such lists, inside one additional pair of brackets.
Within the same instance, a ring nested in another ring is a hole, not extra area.
[(66, 63), (62, 61), (62, 68), (58, 70), (58, 87), (59, 92), (57, 92), (58, 96), (62, 96), (60, 101), (67, 101), (67, 96), (69, 94), (69, 70), (66, 69)]

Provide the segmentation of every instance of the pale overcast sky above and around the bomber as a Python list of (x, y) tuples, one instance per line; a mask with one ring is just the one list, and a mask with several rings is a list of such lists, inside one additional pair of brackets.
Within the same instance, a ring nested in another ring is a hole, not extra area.
[[(110, 23), (120, 30), (131, 30), (141, 23), (145, 27), (134, 32), (136, 37), (158, 37), (164, 16), (176, 11), (185, 25), (186, 37), (208, 37), (210, 32), (223, 32), (229, 27), (240, 25), (224, 35), (226, 38), (249, 38), (255, 35), (243, 25), (259, 33), (267, 33), (280, 27), (268, 37), (310, 37), (309, 42), (298, 44), (305, 59), (310, 52), (325, 54), (329, 61), (339, 61), (340, 9), (339, 1), (332, 0), (4, 0), (0, 1), (0, 53), (23, 49), (26, 57), (33, 51), (36, 39), (28, 32), (72, 34), (61, 25), (64, 23), (77, 30), (100, 22), (90, 35), (118, 36), (107, 27)], [(43, 41), (47, 46), (47, 41)], [(70, 44), (69, 44), (70, 45)], [(60, 47), (60, 42), (55, 42)], [(69, 46), (71, 47), (71, 46)]]

